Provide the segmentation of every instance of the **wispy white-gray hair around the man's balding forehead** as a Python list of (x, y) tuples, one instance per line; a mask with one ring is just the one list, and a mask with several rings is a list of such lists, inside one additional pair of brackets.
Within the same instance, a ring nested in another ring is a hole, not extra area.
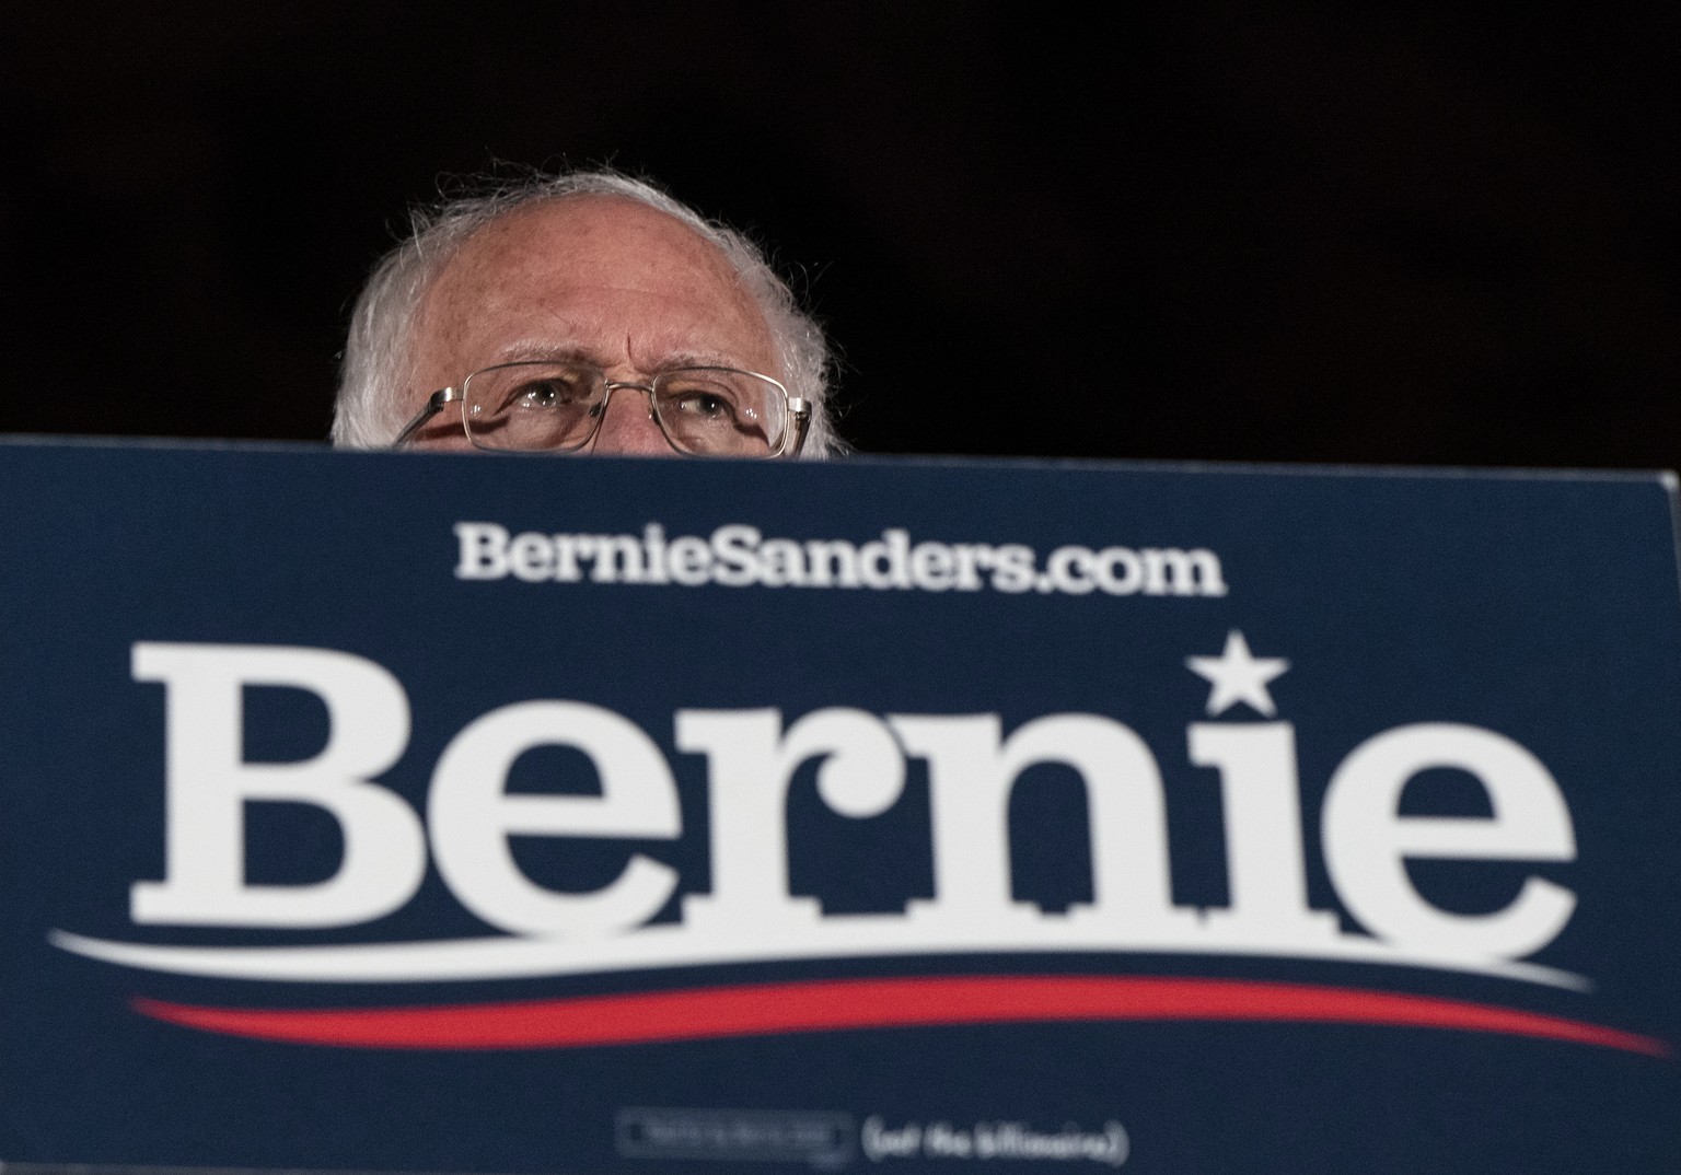
[(802, 456), (829, 457), (846, 451), (829, 419), (829, 345), (824, 331), (800, 309), (793, 291), (743, 234), (706, 220), (654, 185), (619, 171), (565, 171), (493, 183), (486, 183), (477, 195), (414, 210), (408, 239), (373, 269), (350, 318), (333, 407), (335, 445), (382, 449), (407, 424), (410, 343), (420, 303), (472, 234), (540, 200), (620, 197), (674, 217), (723, 252), (765, 316), (788, 395), (804, 397), (812, 405)]

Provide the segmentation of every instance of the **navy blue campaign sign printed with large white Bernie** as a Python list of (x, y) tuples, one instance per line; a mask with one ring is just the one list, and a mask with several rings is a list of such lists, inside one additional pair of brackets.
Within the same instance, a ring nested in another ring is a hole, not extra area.
[(1674, 1172), (1659, 476), (5, 444), (0, 1160)]

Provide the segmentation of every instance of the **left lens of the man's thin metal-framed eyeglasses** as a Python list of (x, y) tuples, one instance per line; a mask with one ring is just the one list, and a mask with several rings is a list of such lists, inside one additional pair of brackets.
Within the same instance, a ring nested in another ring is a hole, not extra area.
[(577, 449), (595, 430), (605, 385), (575, 363), (504, 363), (467, 377), (467, 437), (481, 449)]

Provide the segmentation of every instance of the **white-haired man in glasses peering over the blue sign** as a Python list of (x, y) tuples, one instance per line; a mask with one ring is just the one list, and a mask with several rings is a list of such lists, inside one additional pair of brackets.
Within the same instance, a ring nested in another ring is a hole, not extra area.
[(356, 301), (333, 440), (825, 457), (827, 366), (745, 237), (575, 171), (415, 219)]

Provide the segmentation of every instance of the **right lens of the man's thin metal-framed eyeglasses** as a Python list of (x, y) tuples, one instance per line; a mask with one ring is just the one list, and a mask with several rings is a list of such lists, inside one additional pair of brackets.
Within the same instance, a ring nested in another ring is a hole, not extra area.
[(654, 380), (654, 410), (674, 445), (703, 456), (765, 457), (788, 427), (780, 383), (726, 366), (666, 371)]

